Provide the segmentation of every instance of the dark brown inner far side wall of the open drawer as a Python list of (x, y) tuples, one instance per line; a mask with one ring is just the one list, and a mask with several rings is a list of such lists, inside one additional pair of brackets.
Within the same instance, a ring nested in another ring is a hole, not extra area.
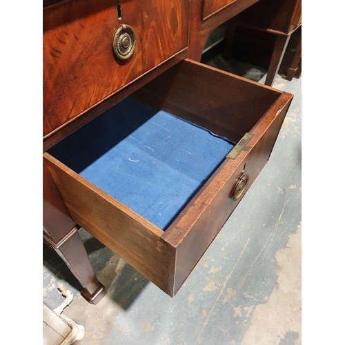
[(238, 143), (281, 94), (185, 59), (139, 89), (134, 97)]

